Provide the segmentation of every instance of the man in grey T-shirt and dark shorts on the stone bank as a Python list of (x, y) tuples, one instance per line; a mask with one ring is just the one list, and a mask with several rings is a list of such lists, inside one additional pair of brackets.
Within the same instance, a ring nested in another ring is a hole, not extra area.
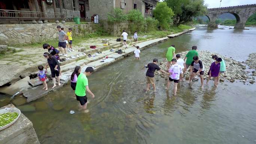
[(62, 55), (67, 56), (67, 48), (66, 48), (66, 38), (67, 38), (67, 34), (61, 30), (61, 26), (58, 25), (57, 26), (57, 30), (59, 31), (59, 44), (58, 47), (60, 49), (60, 51), (62, 52)]

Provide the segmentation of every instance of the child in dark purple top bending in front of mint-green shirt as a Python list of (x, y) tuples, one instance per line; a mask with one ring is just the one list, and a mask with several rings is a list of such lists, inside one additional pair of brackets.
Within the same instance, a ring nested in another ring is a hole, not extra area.
[(206, 82), (207, 85), (211, 77), (214, 77), (214, 86), (217, 86), (217, 77), (219, 76), (221, 61), (222, 61), (221, 58), (217, 58), (215, 62), (211, 63), (211, 67), (208, 72), (209, 77)]

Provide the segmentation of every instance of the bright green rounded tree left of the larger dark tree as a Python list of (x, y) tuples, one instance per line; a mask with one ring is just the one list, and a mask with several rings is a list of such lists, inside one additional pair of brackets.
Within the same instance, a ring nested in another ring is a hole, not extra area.
[(174, 13), (173, 10), (167, 6), (166, 2), (160, 2), (156, 4), (156, 8), (153, 10), (153, 15), (159, 21), (159, 25), (162, 29), (168, 29)]

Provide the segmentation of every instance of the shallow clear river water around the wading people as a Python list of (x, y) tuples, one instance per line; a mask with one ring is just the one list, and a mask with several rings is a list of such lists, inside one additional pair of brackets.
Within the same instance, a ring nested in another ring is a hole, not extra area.
[(140, 61), (127, 57), (93, 73), (88, 77), (95, 94), (95, 99), (88, 96), (89, 113), (77, 111), (69, 84), (29, 103), (37, 110), (23, 113), (41, 144), (256, 144), (255, 85), (225, 82), (214, 88), (210, 82), (202, 90), (198, 81), (192, 86), (180, 82), (173, 96), (173, 84), (166, 91), (165, 79), (156, 76), (159, 92), (143, 92), (144, 65), (153, 58), (161, 62), (171, 44), (177, 52), (198, 45), (244, 61), (255, 52), (256, 29), (235, 31), (200, 28), (141, 51)]

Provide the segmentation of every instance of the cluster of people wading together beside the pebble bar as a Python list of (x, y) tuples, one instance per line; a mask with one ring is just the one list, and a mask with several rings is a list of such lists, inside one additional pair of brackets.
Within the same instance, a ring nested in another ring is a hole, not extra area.
[[(154, 92), (156, 91), (154, 73), (155, 70), (160, 70), (162, 73), (169, 75), (169, 80), (167, 83), (167, 87), (165, 89), (169, 89), (170, 83), (174, 82), (174, 95), (177, 94), (177, 85), (179, 81), (182, 81), (183, 74), (190, 66), (190, 78), (189, 83), (195, 79), (195, 76), (199, 75), (201, 80), (201, 88), (204, 87), (204, 64), (198, 57), (198, 52), (196, 51), (197, 46), (192, 46), (192, 50), (190, 50), (184, 60), (180, 58), (180, 54), (175, 55), (175, 46), (172, 45), (168, 48), (166, 58), (167, 58), (167, 72), (161, 70), (157, 65), (158, 59), (153, 59), (153, 63), (145, 65), (148, 68), (146, 73), (146, 81), (147, 88), (146, 91), (149, 91), (150, 84), (153, 86)], [(210, 66), (210, 70), (208, 71), (207, 85), (211, 77), (214, 78), (214, 86), (218, 86), (220, 80), (220, 74), (224, 73), (226, 70), (225, 61), (222, 58), (218, 58), (217, 55), (213, 55), (212, 59), (214, 62)], [(186, 60), (186, 63), (185, 63)], [(172, 64), (172, 65), (171, 65)]]

